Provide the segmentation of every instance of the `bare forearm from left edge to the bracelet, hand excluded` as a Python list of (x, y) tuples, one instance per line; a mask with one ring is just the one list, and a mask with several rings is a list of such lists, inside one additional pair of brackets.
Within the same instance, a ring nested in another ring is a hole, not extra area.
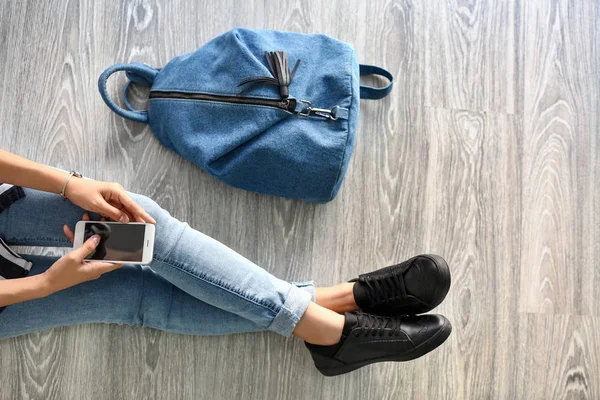
[(68, 173), (0, 149), (0, 182), (60, 193)]

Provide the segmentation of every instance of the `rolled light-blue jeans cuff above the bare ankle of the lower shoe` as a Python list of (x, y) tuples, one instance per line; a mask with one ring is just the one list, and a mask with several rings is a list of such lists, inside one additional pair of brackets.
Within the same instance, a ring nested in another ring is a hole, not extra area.
[(282, 336), (290, 336), (306, 312), (308, 304), (314, 300), (315, 286), (312, 282), (292, 284), (285, 303), (269, 325), (268, 330)]

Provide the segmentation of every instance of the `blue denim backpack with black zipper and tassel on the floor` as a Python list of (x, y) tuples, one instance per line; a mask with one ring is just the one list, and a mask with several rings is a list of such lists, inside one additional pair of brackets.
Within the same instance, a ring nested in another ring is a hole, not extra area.
[[(124, 104), (106, 81), (125, 71)], [(384, 88), (360, 86), (381, 75)], [(133, 82), (150, 88), (147, 111), (127, 101)], [(100, 75), (104, 102), (150, 124), (177, 154), (237, 188), (313, 202), (337, 194), (354, 147), (359, 98), (379, 99), (392, 75), (359, 65), (354, 49), (325, 35), (234, 29), (161, 69), (117, 64)]]

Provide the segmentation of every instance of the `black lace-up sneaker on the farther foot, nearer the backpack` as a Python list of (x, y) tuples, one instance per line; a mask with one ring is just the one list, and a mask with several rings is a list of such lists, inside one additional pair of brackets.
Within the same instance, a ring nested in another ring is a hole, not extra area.
[(414, 315), (433, 310), (450, 289), (450, 269), (440, 256), (423, 254), (391, 267), (360, 275), (354, 300), (377, 315)]

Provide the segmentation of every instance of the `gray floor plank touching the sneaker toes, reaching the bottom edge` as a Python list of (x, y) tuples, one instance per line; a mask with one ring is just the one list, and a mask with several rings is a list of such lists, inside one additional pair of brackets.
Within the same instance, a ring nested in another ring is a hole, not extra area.
[[(422, 251), (444, 255), (453, 285), (439, 312), (451, 315), (452, 351), (433, 354), (433, 372), (418, 393), (424, 398), (514, 398), (515, 323), (510, 296), (517, 275), (520, 219), (518, 118), (509, 115), (430, 109), (428, 166), (423, 187), (427, 227)], [(498, 132), (502, 132), (501, 135)], [(435, 358), (434, 358), (435, 357)], [(444, 365), (437, 370), (437, 359)], [(445, 380), (448, 380), (446, 383)], [(494, 384), (496, 382), (496, 384)], [(417, 397), (418, 398), (418, 397)]]

